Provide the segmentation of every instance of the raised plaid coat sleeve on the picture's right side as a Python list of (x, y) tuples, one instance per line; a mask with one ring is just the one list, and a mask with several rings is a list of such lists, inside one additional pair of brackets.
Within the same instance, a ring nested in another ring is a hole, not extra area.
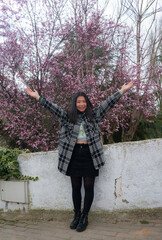
[(113, 95), (103, 101), (98, 107), (93, 109), (94, 118), (97, 123), (101, 122), (106, 113), (117, 103), (122, 96), (120, 91), (115, 92)]

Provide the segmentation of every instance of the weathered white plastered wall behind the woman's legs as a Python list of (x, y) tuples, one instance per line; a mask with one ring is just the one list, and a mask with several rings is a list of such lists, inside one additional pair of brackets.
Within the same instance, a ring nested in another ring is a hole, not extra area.
[[(104, 151), (92, 210), (162, 207), (162, 139), (105, 145)], [(0, 208), (72, 209), (70, 178), (57, 170), (57, 157), (57, 151), (21, 154), (22, 173), (39, 181), (29, 182), (28, 205), (0, 200)]]

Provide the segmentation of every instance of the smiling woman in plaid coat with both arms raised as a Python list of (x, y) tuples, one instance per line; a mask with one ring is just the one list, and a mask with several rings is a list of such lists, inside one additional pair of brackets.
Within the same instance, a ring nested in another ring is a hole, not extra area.
[[(73, 97), (69, 111), (65, 111), (57, 104), (39, 96), (36, 90), (26, 89), (31, 97), (37, 99), (60, 122), (58, 169), (71, 178), (75, 214), (70, 228), (76, 229), (78, 232), (84, 231), (88, 225), (88, 213), (94, 197), (95, 177), (99, 175), (99, 168), (105, 163), (99, 123), (121, 95), (132, 86), (133, 81), (124, 84), (121, 90), (96, 108), (92, 108), (85, 93), (78, 92)], [(82, 179), (84, 180), (85, 196), (81, 212)]]

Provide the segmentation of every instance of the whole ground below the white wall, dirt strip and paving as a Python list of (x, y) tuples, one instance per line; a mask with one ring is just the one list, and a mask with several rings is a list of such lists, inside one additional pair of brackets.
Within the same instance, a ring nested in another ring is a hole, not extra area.
[(0, 212), (0, 240), (162, 240), (162, 209), (92, 212), (86, 231), (69, 229), (71, 212)]

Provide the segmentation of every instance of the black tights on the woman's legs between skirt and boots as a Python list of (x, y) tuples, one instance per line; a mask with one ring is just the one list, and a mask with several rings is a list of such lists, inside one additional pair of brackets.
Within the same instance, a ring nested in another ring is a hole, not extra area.
[[(95, 177), (83, 177), (83, 180), (85, 189), (83, 213), (88, 214), (94, 197)], [(82, 177), (71, 177), (71, 184), (74, 210), (80, 210), (82, 200), (81, 196)]]

